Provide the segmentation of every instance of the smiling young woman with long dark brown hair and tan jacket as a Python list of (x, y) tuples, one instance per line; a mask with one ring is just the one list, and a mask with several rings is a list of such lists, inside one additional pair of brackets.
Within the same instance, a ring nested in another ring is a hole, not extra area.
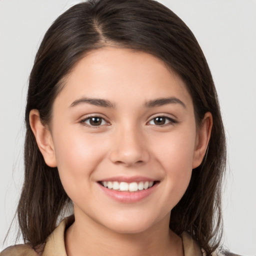
[(228, 254), (217, 94), (192, 32), (162, 4), (89, 0), (60, 15), (25, 121), (25, 244), (1, 256)]

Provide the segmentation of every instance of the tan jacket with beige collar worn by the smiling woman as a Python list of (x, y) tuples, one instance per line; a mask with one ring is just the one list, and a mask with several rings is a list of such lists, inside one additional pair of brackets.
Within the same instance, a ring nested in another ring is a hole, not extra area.
[[(73, 218), (63, 219), (60, 224), (47, 237), (46, 242), (36, 249), (28, 244), (18, 244), (7, 247), (0, 253), (0, 256), (67, 256), (64, 244), (64, 233), (66, 226), (69, 226)], [(186, 233), (181, 235), (184, 249), (184, 256), (203, 256), (197, 243)], [(213, 256), (235, 256), (236, 254), (216, 252)], [(237, 255), (238, 256), (238, 255)]]

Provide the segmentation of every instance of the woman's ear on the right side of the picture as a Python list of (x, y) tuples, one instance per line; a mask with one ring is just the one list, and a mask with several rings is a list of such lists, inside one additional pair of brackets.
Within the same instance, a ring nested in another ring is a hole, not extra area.
[(197, 128), (192, 168), (198, 167), (202, 162), (210, 139), (211, 128), (212, 115), (210, 112), (206, 112), (201, 121), (200, 127)]

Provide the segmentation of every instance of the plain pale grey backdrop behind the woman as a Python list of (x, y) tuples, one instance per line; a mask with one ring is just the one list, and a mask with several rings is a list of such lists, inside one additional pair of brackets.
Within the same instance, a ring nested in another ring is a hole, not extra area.
[[(14, 243), (27, 79), (42, 36), (74, 0), (0, 0), (0, 250)], [(219, 95), (228, 142), (226, 247), (256, 255), (256, 1), (161, 0), (195, 34)], [(35, 188), (36, 189), (36, 188)]]

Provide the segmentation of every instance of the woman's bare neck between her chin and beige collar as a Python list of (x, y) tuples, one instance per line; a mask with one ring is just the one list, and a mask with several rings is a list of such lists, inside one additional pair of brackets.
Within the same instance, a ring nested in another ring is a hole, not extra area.
[(66, 230), (65, 246), (68, 256), (183, 256), (182, 241), (168, 227), (169, 216), (146, 230), (120, 233), (110, 230), (88, 217), (75, 217)]

